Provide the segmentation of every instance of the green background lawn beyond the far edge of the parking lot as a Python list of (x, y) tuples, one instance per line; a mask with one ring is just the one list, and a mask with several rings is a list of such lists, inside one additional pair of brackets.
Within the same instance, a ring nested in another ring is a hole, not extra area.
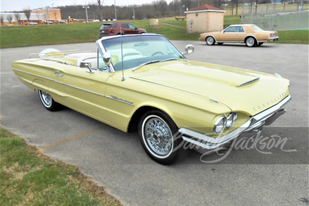
[[(127, 21), (127, 20), (126, 20)], [(186, 20), (159, 19), (161, 22), (185, 27)], [(186, 30), (159, 23), (159, 28), (149, 27), (149, 20), (128, 20), (137, 27), (144, 28), (148, 33), (162, 34), (170, 40), (197, 41), (200, 34), (187, 34)], [(225, 16), (224, 24), (240, 23), (239, 16)], [(34, 45), (56, 45), (68, 43), (95, 42), (99, 38), (101, 23), (72, 23), (60, 25), (37, 25), (27, 27), (1, 27), (1, 48), (27, 47)], [(286, 32), (286, 33), (285, 33)], [(308, 44), (308, 30), (279, 31), (278, 43)], [(284, 38), (282, 38), (282, 36)]]

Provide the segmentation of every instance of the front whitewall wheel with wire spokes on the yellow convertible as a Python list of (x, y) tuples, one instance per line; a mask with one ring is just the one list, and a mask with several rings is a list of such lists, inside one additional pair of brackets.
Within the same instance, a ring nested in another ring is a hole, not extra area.
[(185, 158), (187, 150), (172, 119), (161, 111), (148, 111), (139, 120), (139, 138), (147, 155), (163, 165)]

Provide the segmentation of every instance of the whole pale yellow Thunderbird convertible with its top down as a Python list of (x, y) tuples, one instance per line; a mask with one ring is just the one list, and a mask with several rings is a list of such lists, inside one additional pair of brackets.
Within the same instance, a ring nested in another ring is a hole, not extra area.
[(12, 69), (47, 110), (62, 104), (138, 131), (144, 150), (162, 164), (183, 159), (188, 144), (205, 152), (256, 135), (290, 100), (289, 81), (278, 74), (187, 60), (165, 36), (106, 36), (96, 45), (97, 52), (47, 49)]

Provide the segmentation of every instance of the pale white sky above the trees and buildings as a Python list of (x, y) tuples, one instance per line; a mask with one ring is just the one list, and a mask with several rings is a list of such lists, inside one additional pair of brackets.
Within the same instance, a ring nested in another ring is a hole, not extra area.
[[(131, 5), (131, 4), (141, 4), (141, 3), (151, 3), (153, 0), (115, 0), (116, 5)], [(168, 3), (170, 3), (172, 0), (168, 0)], [(87, 0), (87, 3), (95, 3), (96, 0)], [(57, 5), (73, 5), (75, 3), (77, 4), (84, 4), (85, 0), (1, 0), (1, 8), (0, 11), (14, 11), (14, 10), (23, 10), (23, 8), (29, 8), (30, 9), (36, 9), (36, 8), (42, 8), (47, 5), (49, 7), (52, 7), (52, 3), (54, 3), (54, 8), (57, 7)], [(105, 0), (104, 5), (112, 5), (114, 4), (114, 0)]]

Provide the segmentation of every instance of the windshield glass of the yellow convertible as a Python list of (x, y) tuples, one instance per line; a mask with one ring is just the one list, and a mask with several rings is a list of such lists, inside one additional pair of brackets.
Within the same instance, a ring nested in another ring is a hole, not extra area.
[(124, 58), (124, 69), (138, 67), (154, 60), (185, 58), (163, 36), (122, 36), (122, 49), (120, 38), (106, 39), (102, 41), (102, 44), (106, 52), (111, 52), (111, 62), (115, 71), (122, 70), (122, 57)]

